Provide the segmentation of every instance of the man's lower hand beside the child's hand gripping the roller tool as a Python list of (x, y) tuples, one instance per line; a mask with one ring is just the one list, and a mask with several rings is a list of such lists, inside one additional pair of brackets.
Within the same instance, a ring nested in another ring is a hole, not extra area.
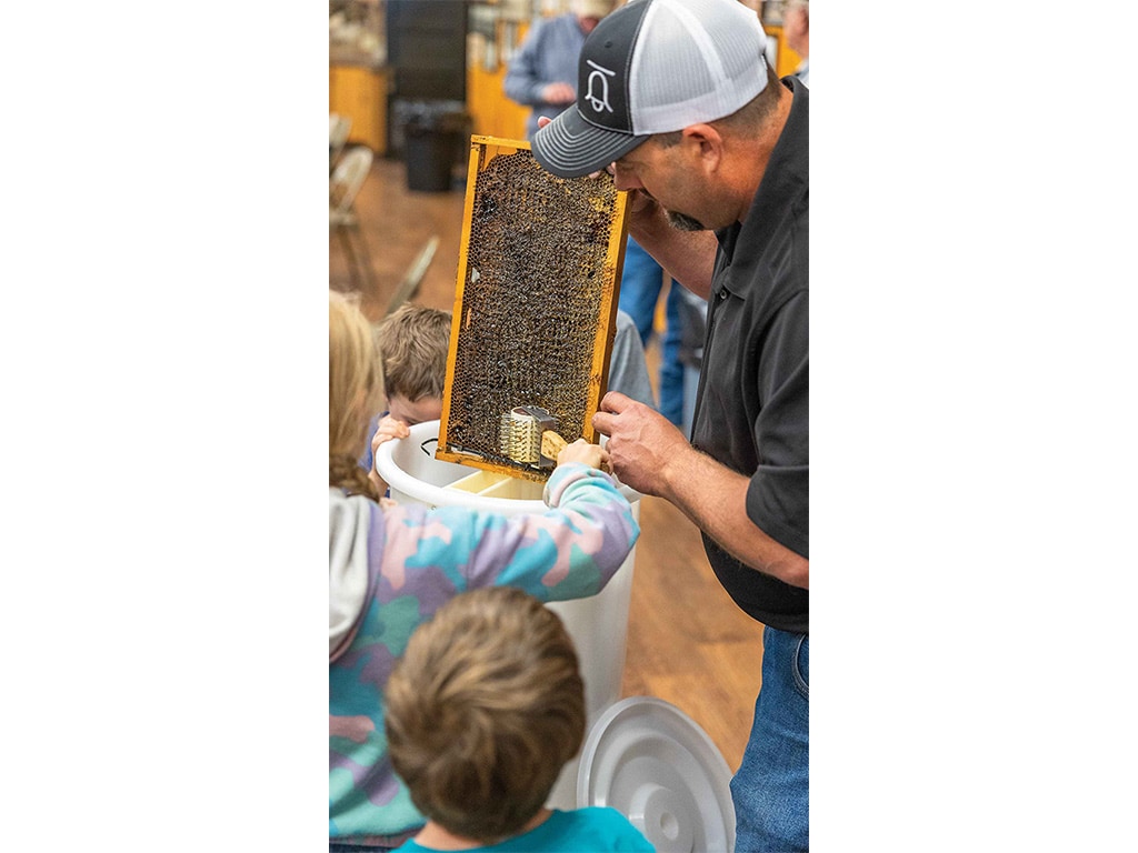
[(617, 479), (643, 495), (668, 497), (669, 477), (692, 453), (667, 417), (619, 391), (604, 395), (593, 429), (609, 438), (605, 449)]

